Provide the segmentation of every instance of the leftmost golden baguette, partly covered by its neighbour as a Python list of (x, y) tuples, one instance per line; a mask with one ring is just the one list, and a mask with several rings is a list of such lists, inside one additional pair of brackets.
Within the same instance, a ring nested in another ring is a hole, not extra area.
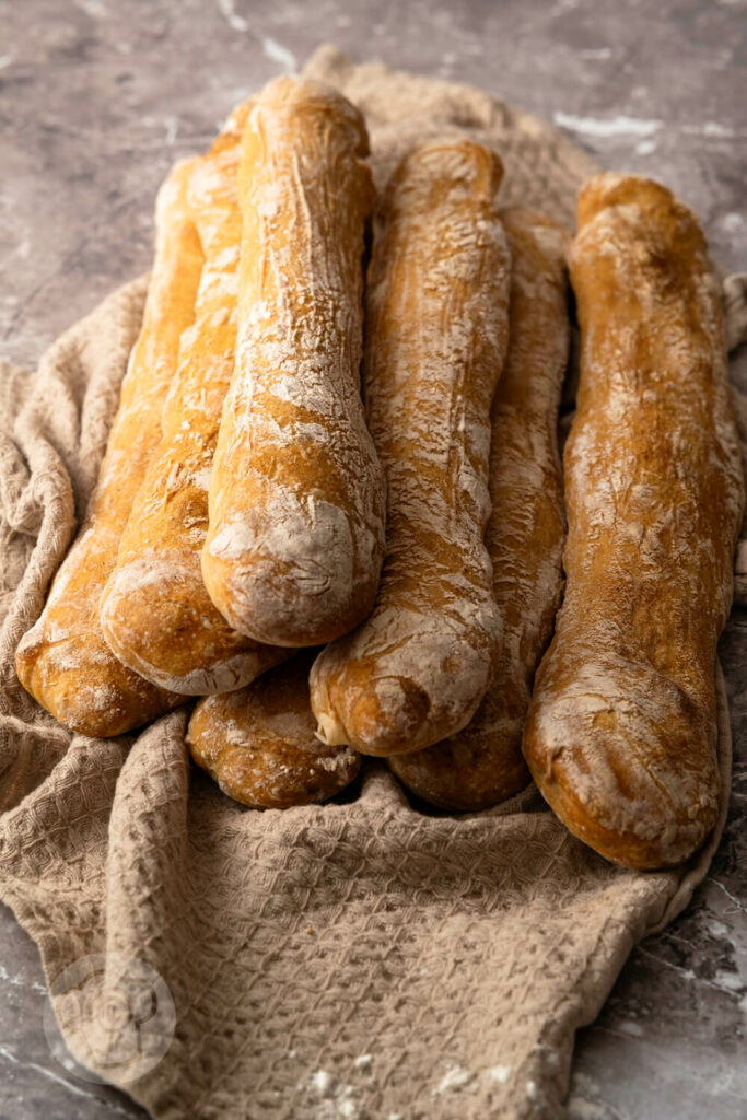
[(99, 625), (99, 599), (116, 559), (133, 497), (161, 435), (161, 409), (181, 332), (195, 315), (203, 267), (187, 190), (194, 161), (177, 164), (157, 205), (157, 245), (142, 329), (81, 532), (36, 625), (18, 646), (18, 676), (65, 727), (110, 736), (184, 702), (114, 657)]

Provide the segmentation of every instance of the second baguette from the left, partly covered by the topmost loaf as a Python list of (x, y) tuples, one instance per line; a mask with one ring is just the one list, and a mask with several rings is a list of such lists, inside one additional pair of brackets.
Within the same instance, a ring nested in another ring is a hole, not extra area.
[(164, 409), (164, 435), (136, 495), (101, 603), (104, 637), (142, 676), (205, 696), (249, 683), (288, 656), (233, 629), (205, 589), (207, 486), (233, 372), (241, 211), (240, 106), (196, 167), (189, 204), (205, 253), (194, 325)]

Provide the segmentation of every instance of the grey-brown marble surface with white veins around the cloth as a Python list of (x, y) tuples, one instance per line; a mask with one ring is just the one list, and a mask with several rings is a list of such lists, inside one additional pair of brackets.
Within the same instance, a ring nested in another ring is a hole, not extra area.
[[(171, 161), (321, 41), (464, 80), (654, 175), (747, 268), (744, 0), (0, 0), (0, 355), (32, 363), (148, 268)], [(745, 358), (740, 380), (747, 383)], [(579, 1033), (571, 1120), (747, 1118), (747, 612), (721, 643), (734, 792), (688, 911), (626, 964)], [(0, 907), (0, 1120), (143, 1117), (57, 1065), (30, 939)]]

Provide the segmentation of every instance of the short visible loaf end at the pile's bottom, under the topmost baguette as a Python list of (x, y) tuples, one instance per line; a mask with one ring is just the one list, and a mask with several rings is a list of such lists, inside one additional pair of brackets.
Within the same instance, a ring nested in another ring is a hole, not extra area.
[(187, 743), (224, 793), (255, 809), (326, 801), (361, 768), (349, 747), (321, 747), (309, 706), (314, 653), (265, 673), (237, 692), (200, 700)]

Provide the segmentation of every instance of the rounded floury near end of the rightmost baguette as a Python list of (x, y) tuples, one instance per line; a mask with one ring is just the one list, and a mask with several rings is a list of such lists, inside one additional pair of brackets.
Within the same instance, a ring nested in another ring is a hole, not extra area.
[(570, 831), (625, 867), (673, 867), (716, 823), (715, 715), (651, 665), (590, 657), (572, 679), (549, 665), (524, 756)]

